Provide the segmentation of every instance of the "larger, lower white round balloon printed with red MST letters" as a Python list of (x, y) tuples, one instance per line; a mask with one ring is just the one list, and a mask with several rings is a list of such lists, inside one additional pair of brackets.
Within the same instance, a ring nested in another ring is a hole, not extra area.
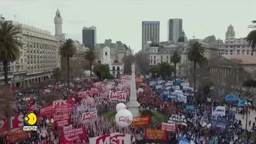
[(121, 127), (127, 127), (132, 124), (133, 116), (131, 111), (127, 109), (121, 109), (116, 113), (116, 124)]

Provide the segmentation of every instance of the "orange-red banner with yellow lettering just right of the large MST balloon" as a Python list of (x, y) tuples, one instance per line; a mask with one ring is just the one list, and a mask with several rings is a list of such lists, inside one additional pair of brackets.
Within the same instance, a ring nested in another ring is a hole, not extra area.
[(150, 124), (151, 124), (150, 116), (133, 117), (133, 121), (132, 121), (133, 127), (146, 127), (146, 126), (150, 126)]

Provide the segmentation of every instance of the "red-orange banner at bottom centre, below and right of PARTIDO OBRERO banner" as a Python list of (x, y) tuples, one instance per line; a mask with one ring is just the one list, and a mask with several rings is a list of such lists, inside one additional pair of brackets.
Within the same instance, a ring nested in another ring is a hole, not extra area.
[(145, 140), (166, 140), (166, 131), (145, 129)]

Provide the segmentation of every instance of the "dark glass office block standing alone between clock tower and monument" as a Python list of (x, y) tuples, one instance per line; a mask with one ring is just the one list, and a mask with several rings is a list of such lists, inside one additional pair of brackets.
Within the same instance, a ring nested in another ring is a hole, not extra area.
[(82, 33), (83, 45), (85, 47), (89, 47), (90, 49), (94, 49), (94, 45), (96, 44), (96, 27), (84, 27)]

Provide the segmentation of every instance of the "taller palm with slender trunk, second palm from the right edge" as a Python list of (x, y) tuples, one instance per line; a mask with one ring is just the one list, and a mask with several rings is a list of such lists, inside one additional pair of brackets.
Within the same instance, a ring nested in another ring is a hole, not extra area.
[(196, 63), (204, 57), (204, 48), (202, 44), (197, 41), (190, 41), (187, 49), (188, 60), (194, 62), (194, 99), (196, 92)]

